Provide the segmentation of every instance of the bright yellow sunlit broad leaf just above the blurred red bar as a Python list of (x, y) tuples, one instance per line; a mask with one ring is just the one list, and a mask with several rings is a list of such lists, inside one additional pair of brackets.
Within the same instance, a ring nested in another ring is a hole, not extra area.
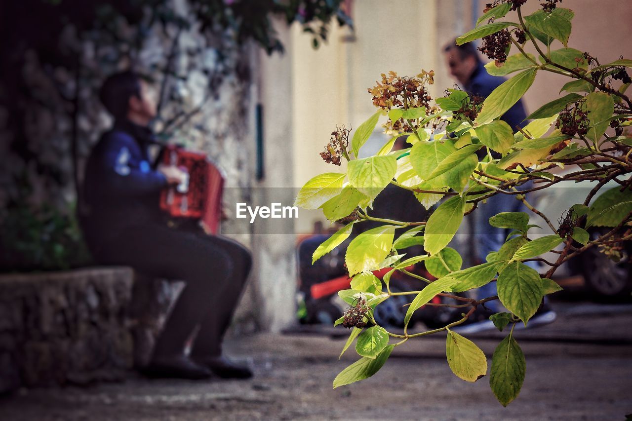
[(394, 233), (395, 227), (386, 225), (369, 229), (354, 238), (344, 257), (349, 275), (375, 270), (391, 251)]

